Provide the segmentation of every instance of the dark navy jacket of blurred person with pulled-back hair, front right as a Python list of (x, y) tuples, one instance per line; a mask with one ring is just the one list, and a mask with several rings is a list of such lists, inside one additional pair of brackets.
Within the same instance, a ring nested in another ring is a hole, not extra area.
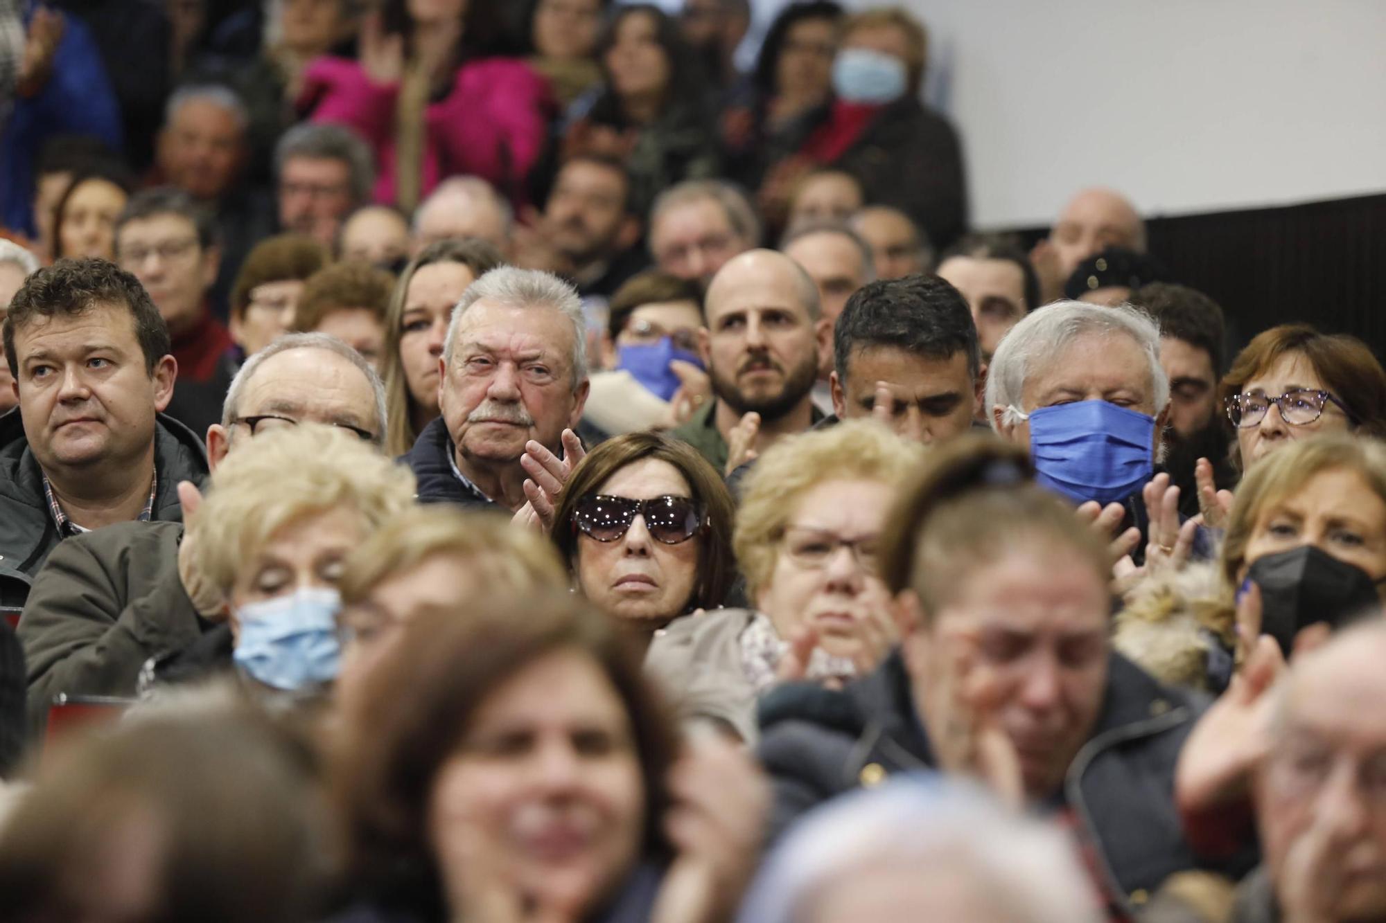
[[(1171, 873), (1207, 868), (1185, 843), (1174, 808), (1174, 765), (1202, 707), (1113, 654), (1096, 728), (1069, 768), (1063, 798), (1102, 859), (1109, 895), (1128, 915)], [(862, 780), (934, 768), (898, 653), (840, 693), (783, 686), (761, 700), (760, 719), (776, 836)], [(1249, 862), (1238, 856), (1234, 865), (1245, 872)]]

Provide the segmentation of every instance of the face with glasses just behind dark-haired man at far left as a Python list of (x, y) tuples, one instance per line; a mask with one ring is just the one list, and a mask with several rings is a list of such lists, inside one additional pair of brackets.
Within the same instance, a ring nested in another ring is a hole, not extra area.
[(175, 337), (202, 317), (220, 254), (202, 249), (197, 227), (165, 212), (126, 222), (115, 238), (116, 262), (134, 273)]

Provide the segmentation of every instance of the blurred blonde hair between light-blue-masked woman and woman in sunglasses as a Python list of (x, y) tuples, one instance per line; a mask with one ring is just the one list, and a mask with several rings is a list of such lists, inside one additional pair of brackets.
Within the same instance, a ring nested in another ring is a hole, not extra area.
[(509, 518), (448, 506), (416, 506), (385, 522), (346, 559), (342, 604), (365, 601), (381, 581), (435, 554), (466, 559), (466, 567), (484, 578), (488, 588), (528, 593), (545, 586), (568, 586), (567, 571), (553, 545), (534, 532), (514, 528)]

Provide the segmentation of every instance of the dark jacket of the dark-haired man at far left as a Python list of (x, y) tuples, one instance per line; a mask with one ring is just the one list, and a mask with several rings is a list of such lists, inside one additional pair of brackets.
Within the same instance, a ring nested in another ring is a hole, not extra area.
[[(158, 416), (154, 424), (158, 493), (154, 521), (183, 521), (179, 481), (207, 482), (207, 450), (191, 430)], [(58, 527), (43, 493), (43, 471), (29, 450), (19, 410), (0, 417), (0, 606), (24, 606), (39, 568), (57, 547)]]

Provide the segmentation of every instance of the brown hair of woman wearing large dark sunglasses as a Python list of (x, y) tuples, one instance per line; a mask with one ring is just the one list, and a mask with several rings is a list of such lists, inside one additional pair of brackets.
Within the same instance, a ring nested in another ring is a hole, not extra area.
[(644, 459), (668, 461), (678, 468), (689, 482), (693, 499), (703, 506), (699, 579), (687, 607), (715, 608), (726, 600), (736, 577), (736, 559), (732, 554), (736, 503), (717, 470), (685, 442), (658, 432), (626, 432), (592, 449), (564, 485), (559, 509), (553, 514), (553, 543), (559, 546), (559, 554), (568, 568), (574, 568), (578, 559), (578, 527), (572, 521), (572, 513), (578, 503), (596, 493), (617, 471)]

